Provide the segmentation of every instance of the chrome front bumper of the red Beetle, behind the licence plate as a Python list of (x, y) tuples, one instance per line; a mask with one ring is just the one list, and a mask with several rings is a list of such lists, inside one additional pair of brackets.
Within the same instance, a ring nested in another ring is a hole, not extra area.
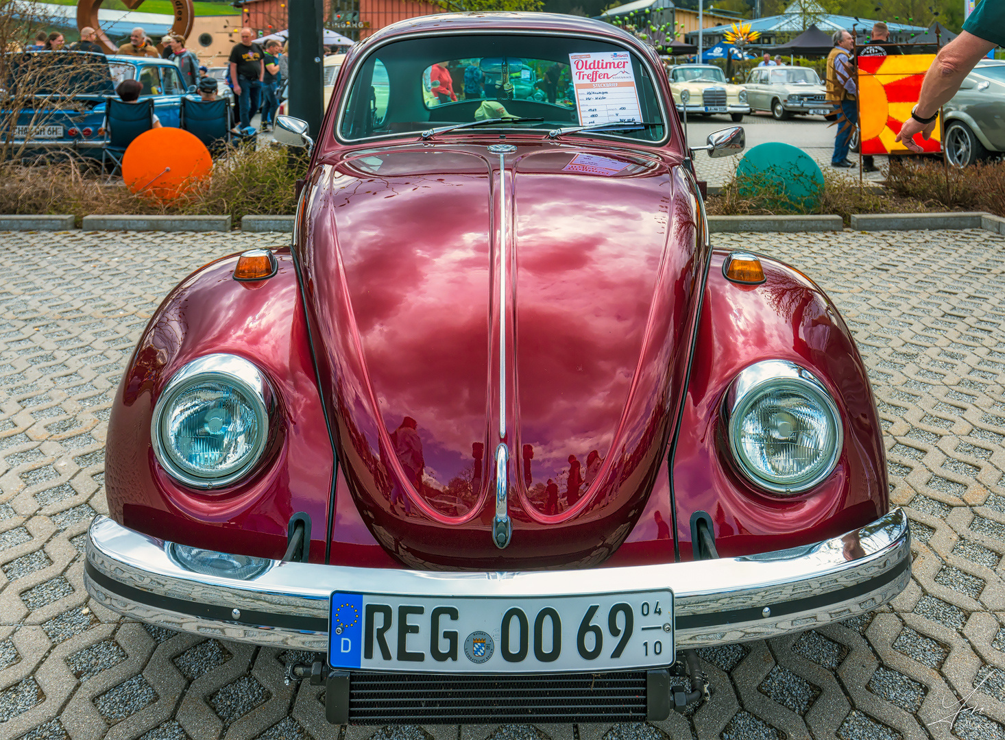
[(895, 509), (843, 537), (719, 560), (585, 570), (433, 572), (273, 561), (237, 580), (177, 565), (168, 543), (97, 516), (84, 583), (141, 622), (221, 640), (326, 652), (333, 590), (431, 596), (540, 596), (668, 586), (678, 649), (820, 627), (870, 611), (911, 578), (911, 534)]

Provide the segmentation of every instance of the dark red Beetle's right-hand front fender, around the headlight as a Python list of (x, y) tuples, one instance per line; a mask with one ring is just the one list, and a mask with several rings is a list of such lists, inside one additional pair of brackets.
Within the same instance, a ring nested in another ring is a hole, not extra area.
[[(713, 253), (684, 416), (672, 471), (681, 557), (690, 557), (690, 518), (707, 512), (721, 556), (819, 542), (863, 526), (888, 509), (882, 430), (865, 366), (834, 304), (812, 280), (761, 257), (766, 281), (726, 279), (727, 252)], [(724, 398), (754, 362), (786, 359), (810, 371), (834, 399), (844, 443), (834, 471), (790, 497), (751, 483), (733, 460)]]

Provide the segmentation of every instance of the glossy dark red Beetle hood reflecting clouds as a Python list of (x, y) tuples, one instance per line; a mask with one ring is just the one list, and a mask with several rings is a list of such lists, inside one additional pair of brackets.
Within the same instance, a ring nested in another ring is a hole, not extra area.
[(412, 566), (602, 560), (680, 398), (707, 258), (688, 176), (641, 153), (504, 157), (505, 183), (485, 146), (323, 165), (297, 237), (340, 464)]

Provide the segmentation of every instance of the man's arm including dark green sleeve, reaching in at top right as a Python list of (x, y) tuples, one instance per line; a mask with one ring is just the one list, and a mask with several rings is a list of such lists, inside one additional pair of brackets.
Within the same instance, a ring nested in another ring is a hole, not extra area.
[(995, 46), (1005, 46), (1005, 2), (981, 0), (963, 24), (960, 35), (943, 46), (922, 82), (918, 104), (903, 121), (894, 141), (912, 152), (922, 152), (915, 135), (932, 136), (939, 108), (960, 89), (970, 70)]

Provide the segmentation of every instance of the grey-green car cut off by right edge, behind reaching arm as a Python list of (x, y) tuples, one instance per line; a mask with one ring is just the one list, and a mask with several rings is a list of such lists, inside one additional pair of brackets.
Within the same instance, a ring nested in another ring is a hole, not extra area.
[(1005, 61), (979, 61), (944, 110), (950, 163), (967, 167), (1005, 152)]

